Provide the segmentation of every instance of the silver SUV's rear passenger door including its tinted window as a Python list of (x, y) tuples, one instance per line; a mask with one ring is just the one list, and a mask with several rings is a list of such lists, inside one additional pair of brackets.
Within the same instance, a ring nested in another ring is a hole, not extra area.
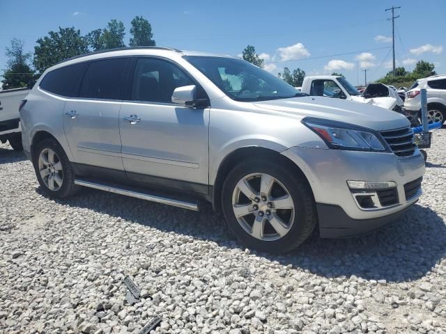
[(77, 99), (67, 100), (64, 129), (75, 162), (123, 170), (119, 110), (129, 57), (90, 61)]

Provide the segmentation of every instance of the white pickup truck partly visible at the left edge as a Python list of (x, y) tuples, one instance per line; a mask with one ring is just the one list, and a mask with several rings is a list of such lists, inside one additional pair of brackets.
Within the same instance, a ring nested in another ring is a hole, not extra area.
[(29, 88), (0, 90), (0, 141), (17, 151), (23, 150), (19, 107), (28, 93)]

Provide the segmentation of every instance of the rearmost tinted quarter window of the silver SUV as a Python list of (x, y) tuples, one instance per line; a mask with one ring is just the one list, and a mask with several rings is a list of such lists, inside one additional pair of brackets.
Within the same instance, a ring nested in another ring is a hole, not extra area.
[(77, 63), (48, 72), (40, 81), (40, 88), (66, 97), (77, 97), (88, 63)]

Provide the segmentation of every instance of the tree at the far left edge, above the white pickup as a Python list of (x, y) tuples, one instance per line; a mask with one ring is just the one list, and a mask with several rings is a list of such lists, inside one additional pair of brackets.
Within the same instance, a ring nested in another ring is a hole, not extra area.
[(34, 71), (29, 67), (31, 52), (24, 52), (24, 42), (14, 38), (6, 47), (6, 71), (1, 81), (3, 89), (26, 87), (34, 81)]

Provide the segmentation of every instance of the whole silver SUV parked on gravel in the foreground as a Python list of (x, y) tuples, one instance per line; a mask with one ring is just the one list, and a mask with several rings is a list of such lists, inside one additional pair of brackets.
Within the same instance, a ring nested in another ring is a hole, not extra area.
[(422, 193), (404, 116), (309, 97), (231, 56), (79, 56), (45, 71), (20, 114), (49, 196), (87, 186), (185, 209), (208, 200), (243, 244), (270, 252), (316, 226), (321, 237), (374, 230)]

